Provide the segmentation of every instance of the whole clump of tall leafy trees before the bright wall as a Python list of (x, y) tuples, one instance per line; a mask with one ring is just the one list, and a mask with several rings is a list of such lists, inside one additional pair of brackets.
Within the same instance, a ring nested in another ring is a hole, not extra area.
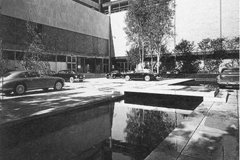
[(172, 2), (172, 0), (129, 0), (125, 32), (129, 44), (142, 48), (142, 53), (139, 52), (142, 54), (142, 64), (145, 47), (151, 55), (157, 54), (157, 62), (160, 61), (162, 47), (166, 45), (167, 38), (172, 35), (174, 14)]

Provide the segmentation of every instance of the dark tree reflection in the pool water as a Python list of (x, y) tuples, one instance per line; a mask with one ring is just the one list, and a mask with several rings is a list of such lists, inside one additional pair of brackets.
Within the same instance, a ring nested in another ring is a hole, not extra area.
[(134, 159), (144, 159), (175, 128), (166, 112), (134, 108), (127, 114), (126, 141), (134, 147)]

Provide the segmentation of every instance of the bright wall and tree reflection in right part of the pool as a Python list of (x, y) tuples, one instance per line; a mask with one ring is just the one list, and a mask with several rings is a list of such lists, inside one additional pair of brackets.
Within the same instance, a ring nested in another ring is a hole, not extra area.
[(191, 113), (149, 107), (124, 101), (115, 103), (111, 146), (113, 153), (125, 155), (121, 160), (146, 158)]

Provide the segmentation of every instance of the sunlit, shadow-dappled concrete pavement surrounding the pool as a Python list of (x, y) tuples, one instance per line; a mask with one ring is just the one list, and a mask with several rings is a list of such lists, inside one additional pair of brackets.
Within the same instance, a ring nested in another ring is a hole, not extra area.
[(215, 96), (215, 91), (204, 87), (170, 85), (189, 80), (191, 79), (145, 82), (95, 78), (86, 79), (82, 83), (66, 83), (60, 92), (36, 90), (24, 96), (2, 96), (0, 124), (8, 125), (115, 100), (127, 91), (203, 96), (203, 102), (146, 160), (238, 159), (239, 92), (224, 89)]

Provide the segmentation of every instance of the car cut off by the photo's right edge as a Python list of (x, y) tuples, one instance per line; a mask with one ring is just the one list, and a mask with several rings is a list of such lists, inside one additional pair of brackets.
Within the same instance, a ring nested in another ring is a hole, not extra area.
[(219, 88), (239, 89), (239, 68), (222, 68), (217, 77)]

